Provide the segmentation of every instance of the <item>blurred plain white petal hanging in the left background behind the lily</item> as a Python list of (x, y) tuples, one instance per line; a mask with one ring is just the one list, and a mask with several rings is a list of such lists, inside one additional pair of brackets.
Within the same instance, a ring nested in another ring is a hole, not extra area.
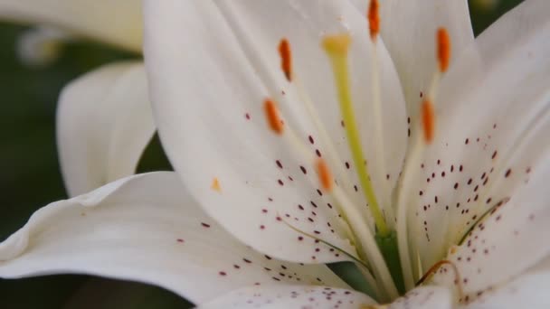
[(140, 62), (94, 70), (62, 90), (57, 144), (70, 196), (135, 173), (155, 133)]

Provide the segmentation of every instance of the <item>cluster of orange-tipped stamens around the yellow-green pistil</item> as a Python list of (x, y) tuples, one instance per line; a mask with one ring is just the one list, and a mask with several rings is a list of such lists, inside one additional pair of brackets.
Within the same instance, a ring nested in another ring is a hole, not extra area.
[[(353, 158), (356, 175), (359, 179), (361, 192), (365, 196), (365, 201), (368, 203), (368, 210), (372, 218), (365, 218), (365, 206), (357, 205), (348, 194), (340, 187), (339, 183), (335, 182), (331, 167), (334, 167), (338, 174), (342, 167), (337, 164), (339, 161), (336, 147), (333, 141), (327, 134), (323, 124), (319, 120), (317, 110), (313, 105), (307, 92), (301, 86), (297, 73), (292, 66), (292, 53), (290, 43), (287, 39), (282, 39), (279, 44), (280, 53), (280, 68), (286, 79), (291, 82), (297, 89), (299, 98), (304, 103), (305, 108), (313, 120), (313, 124), (318, 130), (323, 144), (327, 146), (327, 155), (321, 157), (309, 151), (307, 145), (301, 141), (295, 131), (289, 124), (286, 124), (280, 117), (280, 110), (277, 103), (270, 98), (264, 101), (264, 111), (267, 123), (270, 129), (277, 135), (285, 138), (292, 145), (293, 149), (297, 149), (299, 155), (306, 162), (315, 163), (316, 173), (318, 174), (318, 182), (322, 189), (334, 199), (337, 203), (337, 211), (341, 217), (346, 220), (351, 229), (350, 240), (356, 245), (359, 259), (356, 259), (358, 267), (365, 274), (366, 280), (376, 290), (376, 294), (380, 300), (391, 300), (398, 295), (403, 295), (405, 291), (414, 287), (412, 276), (412, 264), (417, 263), (417, 257), (410, 257), (407, 244), (406, 222), (406, 201), (404, 197), (410, 191), (410, 182), (414, 180), (414, 175), (418, 173), (415, 170), (418, 163), (422, 160), (422, 155), (425, 147), (429, 145), (435, 135), (435, 113), (433, 102), (437, 84), (441, 79), (441, 72), (444, 72), (449, 67), (450, 61), (450, 40), (445, 29), (439, 29), (437, 33), (438, 42), (438, 60), (439, 70), (434, 73), (431, 82), (431, 88), (420, 106), (421, 117), (419, 119), (419, 129), (422, 134), (416, 134), (418, 138), (413, 141), (411, 155), (407, 158), (407, 163), (403, 169), (401, 183), (396, 189), (397, 192), (397, 213), (394, 214), (393, 205), (384, 204), (380, 201), (380, 196), (376, 196), (375, 188), (371, 181), (370, 168), (374, 168), (375, 173), (386, 174), (384, 163), (384, 138), (382, 124), (382, 102), (380, 96), (380, 82), (377, 59), (377, 37), (380, 30), (380, 17), (378, 14), (378, 1), (373, 0), (369, 5), (368, 22), (370, 30), (370, 38), (373, 46), (372, 59), (372, 112), (374, 117), (375, 140), (374, 149), (377, 155), (381, 158), (381, 164), (370, 166), (365, 161), (364, 147), (361, 144), (361, 134), (356, 122), (356, 114), (351, 95), (351, 86), (348, 70), (348, 50), (352, 43), (351, 37), (347, 33), (336, 35), (327, 35), (321, 42), (322, 47), (327, 52), (327, 56), (331, 62), (335, 84), (337, 88), (337, 99), (343, 124), (346, 130), (346, 141), (350, 154)], [(421, 137), (422, 136), (422, 137)], [(346, 179), (341, 179), (340, 182), (347, 182)], [(386, 185), (384, 183), (384, 185)], [(388, 203), (388, 201), (386, 201)], [(369, 219), (374, 220), (375, 226), (371, 227)], [(397, 221), (396, 229), (394, 221)], [(289, 223), (289, 227), (293, 228)], [(296, 229), (297, 231), (307, 235), (308, 237), (317, 239), (313, 235)], [(373, 235), (374, 234), (374, 235)], [(323, 241), (322, 239), (318, 239)], [(325, 241), (323, 241), (325, 242)], [(327, 243), (327, 242), (325, 242)], [(334, 246), (327, 243), (334, 248)], [(337, 248), (339, 249), (339, 248)], [(346, 253), (346, 252), (344, 252)], [(353, 257), (355, 255), (346, 253)]]

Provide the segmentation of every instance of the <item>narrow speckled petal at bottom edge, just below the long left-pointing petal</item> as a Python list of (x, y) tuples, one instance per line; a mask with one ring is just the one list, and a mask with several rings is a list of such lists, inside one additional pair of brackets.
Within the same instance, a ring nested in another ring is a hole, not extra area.
[(362, 308), (369, 296), (327, 286), (250, 286), (222, 295), (199, 309), (215, 308)]

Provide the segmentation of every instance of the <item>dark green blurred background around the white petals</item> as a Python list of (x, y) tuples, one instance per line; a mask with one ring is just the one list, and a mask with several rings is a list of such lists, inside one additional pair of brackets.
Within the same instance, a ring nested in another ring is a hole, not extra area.
[[(470, 1), (477, 34), (521, 1), (480, 2), (497, 5), (488, 7)], [(36, 209), (66, 198), (55, 148), (55, 107), (63, 85), (101, 64), (140, 57), (92, 42), (71, 42), (52, 65), (29, 68), (15, 52), (15, 42), (26, 29), (0, 23), (0, 241), (23, 226)], [(170, 166), (156, 137), (138, 171), (166, 169)], [(6, 309), (188, 306), (185, 300), (155, 286), (93, 276), (0, 279), (0, 308)]]

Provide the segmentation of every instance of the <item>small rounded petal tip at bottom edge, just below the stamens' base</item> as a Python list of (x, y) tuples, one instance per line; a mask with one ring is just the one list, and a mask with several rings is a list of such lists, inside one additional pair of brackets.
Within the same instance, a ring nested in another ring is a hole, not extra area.
[(441, 286), (421, 286), (409, 291), (390, 304), (388, 309), (453, 308), (450, 290)]

